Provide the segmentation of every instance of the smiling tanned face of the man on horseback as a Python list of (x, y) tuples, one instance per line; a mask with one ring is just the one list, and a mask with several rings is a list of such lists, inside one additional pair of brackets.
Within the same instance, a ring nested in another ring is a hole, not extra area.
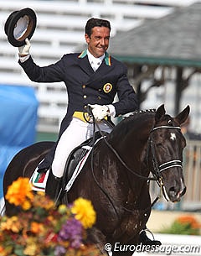
[(104, 55), (108, 49), (110, 29), (106, 27), (94, 27), (91, 31), (90, 37), (88, 34), (85, 34), (85, 41), (88, 44), (88, 50), (91, 55), (98, 58)]

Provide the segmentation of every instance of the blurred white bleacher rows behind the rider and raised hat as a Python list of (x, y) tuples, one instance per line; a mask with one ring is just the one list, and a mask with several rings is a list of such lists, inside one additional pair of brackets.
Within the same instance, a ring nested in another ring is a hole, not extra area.
[(0, 84), (33, 86), (39, 99), (38, 131), (57, 133), (67, 107), (63, 83), (33, 83), (18, 65), (18, 48), (8, 43), (4, 24), (10, 13), (33, 8), (37, 28), (30, 50), (38, 65), (49, 65), (84, 43), (85, 22), (90, 17), (108, 18), (111, 36), (136, 28), (147, 19), (161, 18), (173, 8), (193, 0), (75, 0), (1, 1), (0, 3)]

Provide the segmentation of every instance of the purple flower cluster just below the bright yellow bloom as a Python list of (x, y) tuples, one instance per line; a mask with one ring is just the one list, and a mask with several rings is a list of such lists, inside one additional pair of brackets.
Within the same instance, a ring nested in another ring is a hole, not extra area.
[(82, 240), (82, 225), (75, 218), (71, 218), (64, 223), (59, 231), (60, 240), (70, 241), (72, 248), (80, 248)]

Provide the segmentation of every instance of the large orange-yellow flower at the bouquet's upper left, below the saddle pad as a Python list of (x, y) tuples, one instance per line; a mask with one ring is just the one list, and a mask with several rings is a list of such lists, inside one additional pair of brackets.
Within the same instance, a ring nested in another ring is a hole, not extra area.
[(33, 200), (33, 191), (28, 178), (19, 177), (18, 180), (14, 180), (12, 185), (8, 186), (6, 199), (9, 203), (22, 206), (24, 210), (28, 210), (31, 206), (28, 201)]

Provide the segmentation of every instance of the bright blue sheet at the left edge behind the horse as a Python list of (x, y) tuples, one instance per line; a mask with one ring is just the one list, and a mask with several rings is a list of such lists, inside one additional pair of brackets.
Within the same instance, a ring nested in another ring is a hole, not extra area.
[(38, 106), (33, 87), (0, 84), (0, 198), (8, 164), (35, 141)]

